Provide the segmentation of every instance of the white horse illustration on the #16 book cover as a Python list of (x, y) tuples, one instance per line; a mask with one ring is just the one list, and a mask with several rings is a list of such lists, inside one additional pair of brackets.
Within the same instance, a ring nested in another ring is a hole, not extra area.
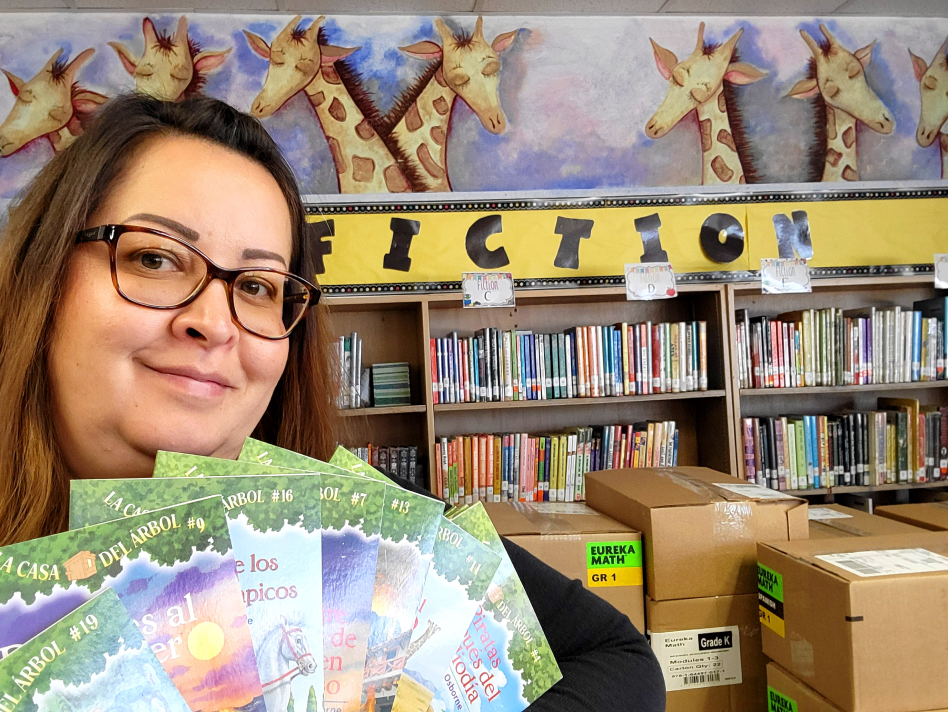
[(269, 712), (285, 712), (290, 702), (290, 681), (316, 672), (316, 658), (303, 634), (303, 622), (280, 616), (257, 647), (257, 668)]

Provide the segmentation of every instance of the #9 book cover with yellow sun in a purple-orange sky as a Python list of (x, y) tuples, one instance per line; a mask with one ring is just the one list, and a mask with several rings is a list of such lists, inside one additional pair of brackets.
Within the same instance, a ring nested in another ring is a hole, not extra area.
[(261, 712), (219, 496), (4, 547), (0, 650), (111, 588), (194, 712)]

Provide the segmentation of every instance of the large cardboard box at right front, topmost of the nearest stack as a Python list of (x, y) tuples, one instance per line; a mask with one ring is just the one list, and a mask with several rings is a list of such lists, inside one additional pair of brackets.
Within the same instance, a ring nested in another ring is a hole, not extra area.
[(948, 532), (758, 544), (764, 654), (845, 712), (948, 707)]

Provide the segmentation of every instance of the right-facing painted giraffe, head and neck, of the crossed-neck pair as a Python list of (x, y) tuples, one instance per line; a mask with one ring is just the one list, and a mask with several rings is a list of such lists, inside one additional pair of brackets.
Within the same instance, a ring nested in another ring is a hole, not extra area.
[(447, 153), (451, 115), (460, 97), (492, 134), (507, 128), (500, 106), (499, 53), (510, 47), (519, 30), (497, 35), (488, 44), (483, 18), (478, 17), (473, 34), (453, 32), (435, 18), (441, 44), (418, 42), (401, 50), (410, 57), (432, 61), (426, 71), (396, 100), (381, 119), (379, 133), (392, 153), (410, 166), (413, 188), (450, 191)]

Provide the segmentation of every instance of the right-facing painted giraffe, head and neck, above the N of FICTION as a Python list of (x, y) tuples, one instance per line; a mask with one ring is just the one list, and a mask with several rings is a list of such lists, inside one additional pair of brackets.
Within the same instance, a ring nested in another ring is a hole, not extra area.
[[(862, 122), (881, 134), (895, 130), (891, 112), (866, 81), (864, 70), (872, 61), (875, 42), (850, 52), (826, 25), (820, 25), (820, 32), (825, 39), (817, 42), (806, 30), (800, 30), (813, 57), (806, 79), (798, 81), (787, 95), (815, 99), (818, 146), (809, 180), (859, 180), (856, 124)], [(819, 161), (822, 177), (817, 175)]]

